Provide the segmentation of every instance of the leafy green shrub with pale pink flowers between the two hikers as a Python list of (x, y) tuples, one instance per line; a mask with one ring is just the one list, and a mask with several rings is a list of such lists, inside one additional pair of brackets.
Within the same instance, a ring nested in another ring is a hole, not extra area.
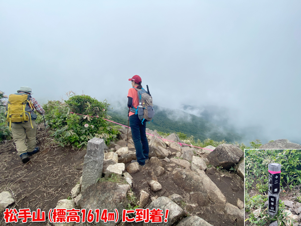
[(109, 106), (106, 100), (100, 102), (87, 95), (74, 95), (64, 102), (48, 101), (43, 108), (46, 111), (45, 120), (57, 142), (61, 146), (79, 148), (87, 146), (94, 137), (104, 139), (106, 144), (116, 138), (118, 130), (104, 119), (109, 117)]

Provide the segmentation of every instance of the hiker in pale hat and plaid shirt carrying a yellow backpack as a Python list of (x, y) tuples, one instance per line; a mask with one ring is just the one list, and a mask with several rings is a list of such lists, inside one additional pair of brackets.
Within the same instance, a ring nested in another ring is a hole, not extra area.
[[(36, 118), (34, 110), (44, 115), (42, 106), (31, 97), (31, 88), (21, 86), (15, 94), (8, 96), (5, 116), (11, 128), (18, 155), (23, 163), (30, 160), (29, 156), (39, 152), (36, 146)], [(26, 138), (26, 144), (25, 144)]]

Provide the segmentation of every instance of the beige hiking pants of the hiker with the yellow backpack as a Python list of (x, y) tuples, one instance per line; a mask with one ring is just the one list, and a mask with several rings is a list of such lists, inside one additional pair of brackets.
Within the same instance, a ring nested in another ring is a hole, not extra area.
[(14, 143), (19, 156), (26, 152), (32, 152), (36, 147), (37, 126), (34, 120), (32, 120), (32, 124), (33, 128), (31, 127), (30, 121), (11, 124), (11, 132), (13, 133)]

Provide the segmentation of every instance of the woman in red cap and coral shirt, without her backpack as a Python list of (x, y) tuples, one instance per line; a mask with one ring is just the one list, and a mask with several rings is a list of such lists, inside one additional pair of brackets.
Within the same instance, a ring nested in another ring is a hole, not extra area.
[[(138, 108), (139, 99), (137, 90), (141, 89), (141, 77), (138, 75), (134, 75), (129, 79), (132, 82), (132, 88), (129, 89), (128, 93), (128, 108), (129, 111), (129, 124), (132, 131), (132, 138), (134, 141), (135, 149), (136, 149), (136, 158), (137, 160), (132, 160), (133, 162), (138, 162), (139, 165), (145, 166), (145, 160), (148, 160), (148, 141), (145, 133), (146, 123), (141, 123), (141, 120), (138, 117), (138, 114), (135, 114), (135, 109)], [(135, 109), (134, 109), (135, 108)]]

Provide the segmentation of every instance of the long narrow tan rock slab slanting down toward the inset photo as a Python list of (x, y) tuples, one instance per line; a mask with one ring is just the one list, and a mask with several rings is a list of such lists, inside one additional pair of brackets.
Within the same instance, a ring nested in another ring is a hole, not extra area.
[(206, 173), (202, 170), (196, 170), (197, 174), (199, 174), (201, 181), (203, 183), (204, 189), (209, 195), (210, 200), (213, 203), (225, 204), (227, 202), (226, 197), (223, 195), (221, 190), (213, 183), (213, 181), (206, 175)]

